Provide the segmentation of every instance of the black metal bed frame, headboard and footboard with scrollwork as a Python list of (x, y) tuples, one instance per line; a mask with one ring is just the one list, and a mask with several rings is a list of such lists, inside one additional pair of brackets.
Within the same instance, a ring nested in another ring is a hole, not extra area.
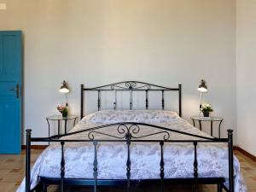
[[(179, 114), (181, 115), (181, 84), (178, 88), (171, 89), (166, 87), (161, 87), (154, 84), (144, 84), (142, 82), (129, 81), (121, 82), (119, 84), (125, 84), (128, 90), (144, 90), (146, 88), (146, 108), (148, 108), (148, 90), (151, 87), (158, 87), (159, 91), (162, 90), (178, 90), (179, 92)], [(108, 84), (111, 90), (114, 87), (119, 90), (127, 90), (119, 84)], [(137, 88), (137, 84), (140, 85)], [(84, 85), (81, 85), (81, 117), (83, 117), (83, 106), (84, 106), (84, 90), (96, 90), (98, 91), (98, 110), (101, 108), (100, 91), (108, 90), (104, 89), (106, 86), (96, 87), (92, 89), (84, 89)], [(157, 89), (155, 89), (157, 90)], [(162, 92), (163, 93), (163, 92)], [(130, 108), (132, 108), (132, 92), (130, 95)], [(116, 97), (113, 103), (114, 108), (116, 108)], [(162, 108), (164, 109), (164, 94), (162, 95)], [(154, 128), (155, 132), (146, 135), (140, 135), (141, 126), (149, 126)], [(105, 129), (114, 129), (116, 131), (115, 135), (111, 135), (106, 132), (101, 132)], [(79, 133), (86, 133), (87, 139), (63, 139), (62, 137), (71, 136)], [(172, 140), (170, 138), (170, 133), (175, 132), (182, 135), (187, 135), (190, 137), (195, 137), (191, 140)], [(109, 137), (109, 139), (98, 139), (97, 136), (103, 135)], [(160, 135), (162, 139), (154, 140), (150, 139), (151, 136)], [(61, 137), (59, 139), (59, 137)], [(148, 139), (149, 138), (149, 139)], [(34, 188), (31, 189), (31, 143), (32, 142), (46, 142), (46, 143), (60, 143), (61, 147), (61, 174), (60, 177), (39, 177), (39, 183)], [(65, 177), (65, 143), (93, 143), (94, 145), (94, 160), (93, 160), (93, 178), (66, 178)], [(126, 179), (99, 179), (98, 176), (98, 160), (97, 160), (97, 147), (98, 143), (125, 143), (127, 147), (127, 157), (126, 157)], [(159, 143), (160, 144), (160, 178), (159, 179), (131, 179), (131, 143)], [(186, 178), (166, 178), (165, 177), (165, 162), (164, 162), (164, 144), (165, 143), (190, 143), (194, 145), (194, 177)], [(197, 145), (198, 143), (227, 143), (229, 154), (229, 186), (224, 185), (224, 177), (199, 177), (198, 176), (198, 161), (197, 161)], [(93, 191), (96, 192), (98, 186), (126, 186), (126, 192), (131, 192), (133, 186), (143, 185), (143, 184), (159, 184), (160, 191), (164, 191), (164, 186), (172, 184), (195, 184), (195, 191), (197, 189), (197, 184), (217, 184), (218, 192), (225, 191), (234, 192), (234, 170), (233, 170), (233, 131), (228, 130), (227, 138), (214, 138), (214, 137), (202, 137), (194, 134), (190, 134), (183, 131), (172, 130), (166, 127), (158, 125), (149, 125), (144, 123), (115, 123), (109, 125), (101, 125), (85, 129), (82, 131), (75, 131), (63, 135), (55, 135), (52, 137), (32, 137), (32, 130), (26, 130), (26, 192), (32, 191), (47, 191), (47, 187), (51, 184), (59, 184), (61, 192), (65, 191), (65, 187), (68, 185), (79, 185), (79, 186), (91, 186)]]

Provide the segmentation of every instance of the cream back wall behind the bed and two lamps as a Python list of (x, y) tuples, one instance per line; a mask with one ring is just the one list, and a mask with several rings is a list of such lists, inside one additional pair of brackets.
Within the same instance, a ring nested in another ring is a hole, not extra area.
[(24, 127), (47, 136), (45, 117), (65, 102), (79, 114), (79, 84), (126, 79), (183, 84), (183, 116), (198, 114), (206, 79), (214, 114), (236, 134), (234, 0), (5, 0), (0, 30), (24, 34)]

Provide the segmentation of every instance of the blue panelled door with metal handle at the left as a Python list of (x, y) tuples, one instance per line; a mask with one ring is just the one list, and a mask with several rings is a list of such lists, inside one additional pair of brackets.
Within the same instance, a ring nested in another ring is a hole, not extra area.
[(20, 154), (21, 80), (21, 32), (0, 31), (0, 154)]

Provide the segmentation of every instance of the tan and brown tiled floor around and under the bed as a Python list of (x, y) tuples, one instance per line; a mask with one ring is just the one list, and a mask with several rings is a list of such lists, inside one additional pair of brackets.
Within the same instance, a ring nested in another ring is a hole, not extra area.
[[(15, 191), (22, 178), (24, 177), (24, 168), (25, 168), (25, 151), (22, 151), (20, 155), (4, 155), (0, 154), (0, 192), (13, 192)], [(38, 157), (42, 150), (33, 150), (32, 151), (32, 163)], [(241, 154), (240, 152), (236, 151), (236, 156), (241, 162), (241, 172), (246, 179), (247, 188), (249, 192), (256, 192), (256, 162), (253, 160), (248, 159), (246, 156)], [(59, 189), (55, 188), (54, 186), (49, 189), (51, 192), (59, 191)], [(72, 191), (82, 191), (79, 189), (73, 189)], [(91, 191), (91, 190), (84, 190), (83, 191)], [(108, 189), (102, 190), (102, 192), (108, 191)], [(125, 191), (122, 189), (111, 189), (111, 191)], [(139, 191), (149, 191), (148, 189), (142, 189)], [(150, 191), (158, 191), (158, 189), (151, 189)], [(166, 189), (166, 192), (182, 192), (182, 191), (193, 191), (191, 186), (186, 187), (176, 187), (172, 189)], [(217, 189), (215, 186), (200, 186), (198, 192), (215, 192)]]

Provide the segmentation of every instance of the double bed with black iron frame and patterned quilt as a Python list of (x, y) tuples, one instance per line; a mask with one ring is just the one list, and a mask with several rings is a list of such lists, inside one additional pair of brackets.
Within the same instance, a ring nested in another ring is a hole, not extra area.
[[(50, 184), (126, 186), (154, 184), (159, 191), (177, 183), (217, 184), (218, 191), (246, 191), (233, 155), (232, 131), (214, 138), (182, 119), (182, 86), (166, 88), (137, 81), (95, 88), (81, 85), (81, 120), (67, 134), (31, 137), (26, 131), (26, 178), (18, 192), (47, 191)], [(113, 110), (101, 110), (101, 92), (113, 90)], [(130, 110), (117, 109), (117, 92), (129, 91)], [(98, 112), (84, 116), (84, 91), (97, 92)], [(133, 110), (133, 91), (145, 92), (146, 110)], [(161, 93), (161, 109), (148, 109), (148, 92)], [(165, 92), (178, 92), (178, 112), (165, 109)], [(49, 142), (32, 170), (32, 142)]]

